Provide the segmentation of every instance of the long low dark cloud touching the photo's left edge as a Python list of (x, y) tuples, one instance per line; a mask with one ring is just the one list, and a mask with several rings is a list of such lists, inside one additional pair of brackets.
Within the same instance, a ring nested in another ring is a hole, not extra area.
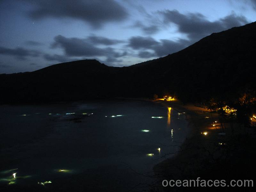
[(28, 50), (22, 47), (17, 47), (15, 49), (0, 47), (0, 54), (13, 55), (19, 60), (25, 60), (28, 56), (38, 57), (40, 55), (40, 52), (35, 50)]

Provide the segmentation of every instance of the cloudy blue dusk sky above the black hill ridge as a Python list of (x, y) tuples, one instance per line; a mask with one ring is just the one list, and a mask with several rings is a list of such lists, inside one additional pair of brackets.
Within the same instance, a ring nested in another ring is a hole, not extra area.
[(0, 74), (81, 59), (129, 66), (255, 18), (256, 0), (1, 0)]

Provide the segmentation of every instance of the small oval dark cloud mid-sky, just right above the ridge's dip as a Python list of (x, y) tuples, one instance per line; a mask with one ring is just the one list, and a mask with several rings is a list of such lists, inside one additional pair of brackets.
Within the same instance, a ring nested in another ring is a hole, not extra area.
[(129, 39), (128, 46), (133, 49), (151, 49), (157, 44), (158, 42), (152, 37), (134, 36)]

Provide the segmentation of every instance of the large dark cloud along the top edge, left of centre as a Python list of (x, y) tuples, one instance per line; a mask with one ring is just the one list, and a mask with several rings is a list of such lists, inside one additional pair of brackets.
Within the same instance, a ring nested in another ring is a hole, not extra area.
[(89, 22), (93, 27), (99, 28), (110, 21), (122, 21), (128, 13), (123, 6), (114, 0), (54, 0), (31, 1), (35, 9), (29, 12), (33, 19), (46, 17), (72, 18)]

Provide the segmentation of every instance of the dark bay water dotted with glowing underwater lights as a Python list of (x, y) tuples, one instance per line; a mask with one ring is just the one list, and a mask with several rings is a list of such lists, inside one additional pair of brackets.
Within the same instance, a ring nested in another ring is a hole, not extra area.
[(153, 181), (140, 173), (152, 174), (188, 131), (184, 114), (156, 102), (0, 108), (0, 188), (10, 191), (147, 189)]

